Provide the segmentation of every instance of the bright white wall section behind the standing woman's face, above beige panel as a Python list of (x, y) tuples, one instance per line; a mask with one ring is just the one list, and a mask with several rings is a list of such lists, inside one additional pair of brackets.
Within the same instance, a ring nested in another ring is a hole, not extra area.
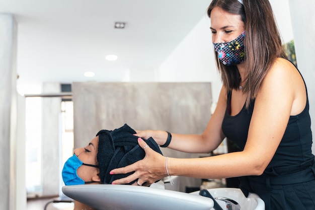
[(211, 82), (213, 103), (217, 102), (221, 82), (206, 13), (160, 65), (157, 77), (160, 82)]

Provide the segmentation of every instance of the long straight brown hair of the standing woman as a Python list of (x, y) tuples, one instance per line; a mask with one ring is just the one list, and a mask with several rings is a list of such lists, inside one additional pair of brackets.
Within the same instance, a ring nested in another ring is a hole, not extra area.
[[(241, 15), (245, 24), (245, 60), (248, 73), (243, 92), (247, 94), (246, 107), (256, 95), (265, 79), (271, 65), (276, 58), (287, 56), (282, 47), (281, 36), (268, 0), (243, 0), (242, 5), (238, 0), (213, 0), (208, 7), (210, 17), (214, 7)], [(238, 89), (241, 77), (236, 65), (223, 65), (216, 56), (216, 64), (221, 75), (221, 80), (227, 91)]]

